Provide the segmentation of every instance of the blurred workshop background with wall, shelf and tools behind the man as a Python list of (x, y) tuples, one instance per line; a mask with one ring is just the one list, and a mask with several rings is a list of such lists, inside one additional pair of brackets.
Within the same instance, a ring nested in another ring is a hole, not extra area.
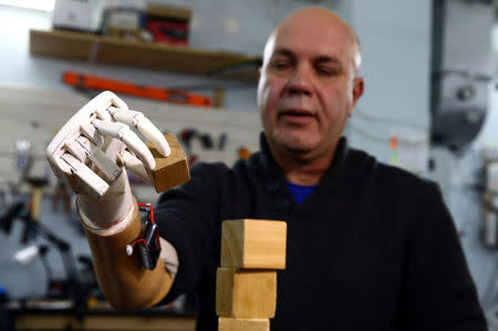
[[(106, 304), (74, 197), (44, 148), (111, 90), (175, 133), (190, 164), (247, 157), (261, 131), (256, 86), (267, 35), (310, 4), (336, 11), (362, 43), (366, 89), (346, 127), (351, 145), (439, 184), (498, 330), (491, 0), (1, 0), (0, 330), (193, 330), (187, 297), (127, 314)], [(132, 183), (138, 200), (157, 199)]]

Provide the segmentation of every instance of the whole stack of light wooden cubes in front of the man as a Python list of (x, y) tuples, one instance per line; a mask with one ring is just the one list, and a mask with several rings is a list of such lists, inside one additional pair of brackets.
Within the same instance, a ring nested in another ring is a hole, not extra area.
[(277, 270), (286, 268), (287, 224), (226, 220), (217, 270), (219, 331), (269, 331), (277, 307)]

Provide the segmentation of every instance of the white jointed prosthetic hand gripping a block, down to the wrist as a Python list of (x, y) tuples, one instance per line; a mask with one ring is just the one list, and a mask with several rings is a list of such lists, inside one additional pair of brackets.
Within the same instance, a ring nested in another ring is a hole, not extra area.
[(131, 126), (169, 155), (160, 131), (108, 91), (84, 105), (46, 148), (53, 172), (79, 195), (80, 211), (97, 227), (108, 227), (129, 211), (132, 193), (123, 166), (152, 180), (148, 174), (156, 163)]

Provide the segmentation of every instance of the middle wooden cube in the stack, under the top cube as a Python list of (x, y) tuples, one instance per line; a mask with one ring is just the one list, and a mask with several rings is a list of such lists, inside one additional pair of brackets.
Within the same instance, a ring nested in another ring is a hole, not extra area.
[(225, 318), (270, 319), (277, 307), (277, 271), (218, 268), (216, 313)]

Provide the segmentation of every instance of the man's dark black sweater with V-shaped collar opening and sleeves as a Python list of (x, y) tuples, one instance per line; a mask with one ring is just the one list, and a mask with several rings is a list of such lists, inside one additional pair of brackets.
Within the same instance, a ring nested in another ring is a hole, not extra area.
[(349, 148), (344, 138), (299, 205), (262, 136), (261, 152), (231, 169), (194, 166), (189, 183), (160, 197), (155, 217), (180, 263), (165, 301), (197, 292), (197, 330), (217, 330), (221, 221), (237, 218), (288, 224), (273, 331), (486, 330), (437, 186)]

